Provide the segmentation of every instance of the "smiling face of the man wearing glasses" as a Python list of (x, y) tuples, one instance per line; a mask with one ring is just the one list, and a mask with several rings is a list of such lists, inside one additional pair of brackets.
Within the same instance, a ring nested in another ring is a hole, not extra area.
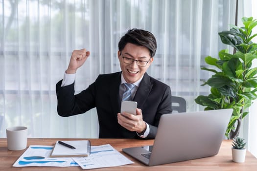
[[(123, 62), (123, 57), (149, 62), (146, 66), (139, 66), (136, 61), (132, 64), (125, 64)], [(127, 83), (137, 82), (153, 62), (150, 51), (146, 47), (132, 43), (127, 43), (122, 51), (118, 51), (118, 59), (122, 75)]]

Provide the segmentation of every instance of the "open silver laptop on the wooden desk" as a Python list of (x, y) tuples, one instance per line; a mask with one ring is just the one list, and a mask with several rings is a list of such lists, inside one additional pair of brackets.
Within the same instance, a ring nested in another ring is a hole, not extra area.
[(153, 146), (122, 149), (148, 166), (214, 156), (233, 109), (164, 114)]

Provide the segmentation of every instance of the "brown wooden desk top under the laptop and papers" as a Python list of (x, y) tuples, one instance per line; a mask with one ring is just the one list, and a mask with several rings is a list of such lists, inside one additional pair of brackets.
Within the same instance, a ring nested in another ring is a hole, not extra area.
[[(57, 140), (53, 138), (28, 138), (27, 145), (53, 145)], [(231, 141), (222, 142), (219, 153), (213, 157), (177, 162), (148, 167), (121, 151), (122, 148), (152, 145), (153, 140), (136, 139), (89, 139), (93, 146), (110, 144), (135, 164), (119, 167), (95, 169), (95, 171), (257, 171), (257, 159), (247, 151), (245, 163), (234, 163), (231, 154)], [(80, 167), (23, 167), (14, 168), (12, 165), (25, 150), (7, 150), (6, 138), (0, 138), (0, 171), (82, 171)]]

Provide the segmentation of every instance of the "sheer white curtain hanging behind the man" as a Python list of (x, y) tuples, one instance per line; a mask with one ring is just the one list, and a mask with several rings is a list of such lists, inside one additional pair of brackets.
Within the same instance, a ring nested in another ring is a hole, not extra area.
[[(240, 6), (239, 6), (240, 8)], [(148, 74), (187, 99), (209, 94), (204, 58), (224, 46), (218, 32), (234, 24), (235, 0), (0, 0), (0, 137), (23, 125), (29, 137), (97, 138), (95, 109), (68, 118), (56, 111), (55, 84), (73, 49), (90, 58), (76, 74), (76, 93), (98, 74), (119, 71), (117, 43), (129, 28), (151, 31), (158, 49)]]

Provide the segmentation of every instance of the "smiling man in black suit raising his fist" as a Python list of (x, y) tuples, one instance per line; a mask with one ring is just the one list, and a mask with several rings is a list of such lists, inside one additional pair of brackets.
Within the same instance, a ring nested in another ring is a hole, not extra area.
[[(58, 114), (67, 117), (96, 107), (99, 138), (155, 138), (161, 115), (172, 112), (170, 87), (146, 73), (156, 48), (152, 33), (136, 28), (128, 30), (118, 43), (121, 72), (99, 75), (93, 84), (76, 95), (74, 75), (90, 51), (74, 50), (64, 79), (56, 84)], [(136, 115), (120, 113), (126, 91), (124, 83), (132, 85), (128, 98), (138, 103)]]

